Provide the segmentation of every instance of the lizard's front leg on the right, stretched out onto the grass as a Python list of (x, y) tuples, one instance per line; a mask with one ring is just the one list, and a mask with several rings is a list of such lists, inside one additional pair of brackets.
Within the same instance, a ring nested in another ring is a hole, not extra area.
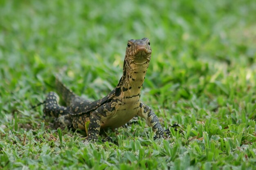
[(141, 109), (137, 115), (146, 119), (146, 123), (153, 128), (157, 137), (164, 137), (164, 130), (153, 110), (142, 102), (140, 102), (139, 107)]

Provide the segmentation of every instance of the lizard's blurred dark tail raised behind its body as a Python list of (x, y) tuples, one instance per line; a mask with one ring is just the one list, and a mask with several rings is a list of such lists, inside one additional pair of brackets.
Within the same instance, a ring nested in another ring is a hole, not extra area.
[(72, 99), (76, 96), (69, 88), (67, 88), (60, 80), (58, 75), (55, 75), (55, 82), (56, 82), (56, 88), (57, 92), (61, 94), (62, 99), (67, 104), (67, 106), (70, 106)]

